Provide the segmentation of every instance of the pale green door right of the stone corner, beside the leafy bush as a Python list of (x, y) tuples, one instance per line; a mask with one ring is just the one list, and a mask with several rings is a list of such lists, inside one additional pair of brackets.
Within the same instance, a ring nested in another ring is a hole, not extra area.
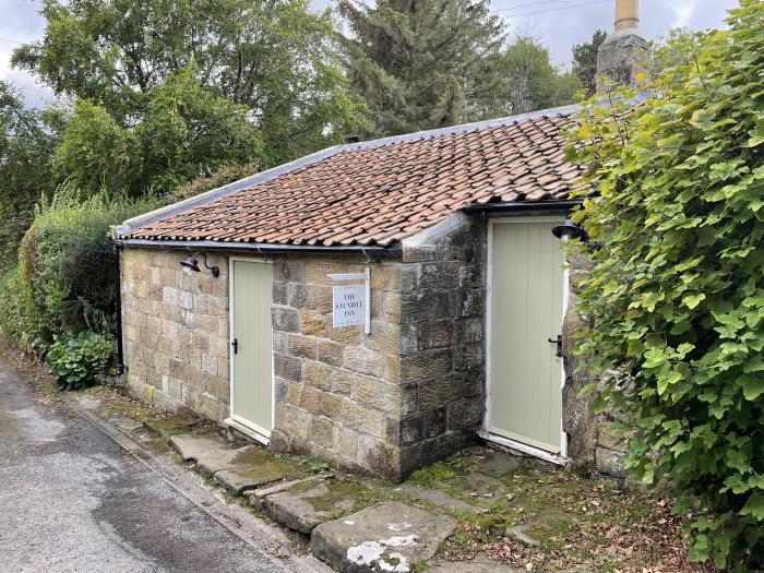
[(564, 258), (549, 219), (491, 225), (488, 431), (560, 453)]

